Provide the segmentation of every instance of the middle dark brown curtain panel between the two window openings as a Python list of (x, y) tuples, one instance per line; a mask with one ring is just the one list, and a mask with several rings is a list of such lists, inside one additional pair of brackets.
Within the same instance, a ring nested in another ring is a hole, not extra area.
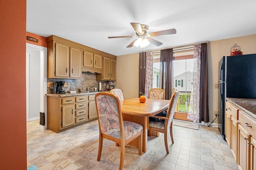
[(172, 57), (173, 50), (160, 50), (160, 87), (165, 91), (165, 99), (170, 100), (172, 96)]

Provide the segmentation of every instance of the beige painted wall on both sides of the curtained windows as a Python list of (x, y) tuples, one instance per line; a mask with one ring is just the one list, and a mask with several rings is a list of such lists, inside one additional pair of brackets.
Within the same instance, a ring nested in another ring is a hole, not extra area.
[[(208, 45), (208, 99), (210, 122), (215, 118), (214, 111), (218, 111), (218, 61), (222, 56), (230, 55), (230, 48), (237, 43), (244, 54), (256, 53), (256, 34), (212, 41)], [(138, 63), (139, 54), (117, 56), (116, 87), (124, 90), (124, 98), (138, 97)], [(216, 123), (216, 122), (215, 122)]]

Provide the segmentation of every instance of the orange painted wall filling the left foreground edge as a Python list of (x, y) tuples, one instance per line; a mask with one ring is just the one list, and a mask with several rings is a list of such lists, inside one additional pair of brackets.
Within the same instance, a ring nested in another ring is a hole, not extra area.
[(0, 169), (26, 170), (26, 0), (0, 11)]

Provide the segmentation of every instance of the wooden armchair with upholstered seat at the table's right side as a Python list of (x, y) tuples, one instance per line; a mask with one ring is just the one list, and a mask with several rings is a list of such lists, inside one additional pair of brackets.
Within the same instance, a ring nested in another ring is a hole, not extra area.
[(168, 148), (168, 142), (167, 142), (167, 132), (168, 129), (170, 129), (170, 136), (171, 136), (171, 140), (172, 143), (174, 143), (173, 140), (173, 135), (172, 135), (172, 120), (173, 120), (173, 116), (174, 116), (174, 111), (175, 111), (175, 107), (178, 101), (178, 97), (179, 97), (179, 92), (176, 91), (172, 94), (172, 97), (170, 99), (170, 103), (169, 103), (169, 107), (168, 107), (168, 111), (166, 113), (166, 117), (161, 117), (161, 116), (152, 116), (158, 119), (164, 119), (164, 123), (162, 122), (154, 122), (154, 121), (149, 121), (148, 123), (148, 130), (154, 130), (157, 132), (161, 132), (164, 133), (164, 144), (165, 144), (165, 149), (167, 154), (169, 154), (169, 148)]

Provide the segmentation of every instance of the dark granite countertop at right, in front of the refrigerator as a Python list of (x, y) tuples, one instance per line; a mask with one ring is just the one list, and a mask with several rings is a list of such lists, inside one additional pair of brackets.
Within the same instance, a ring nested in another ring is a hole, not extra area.
[(227, 101), (256, 119), (256, 99), (227, 98)]

